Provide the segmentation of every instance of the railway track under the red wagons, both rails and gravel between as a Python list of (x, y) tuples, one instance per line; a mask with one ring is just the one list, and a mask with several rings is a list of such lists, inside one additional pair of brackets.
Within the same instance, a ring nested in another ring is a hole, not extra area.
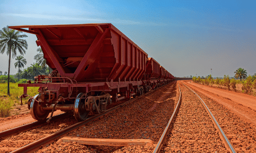
[[(158, 88), (157, 90), (161, 89), (162, 87)], [(150, 94), (154, 91), (155, 90), (147, 92), (146, 94), (144, 94), (142, 96)], [(134, 101), (140, 97), (141, 96), (138, 96), (129, 101), (126, 101), (125, 103), (115, 106), (115, 107), (105, 111), (102, 114), (94, 115), (82, 122), (75, 123), (76, 121), (73, 119), (70, 122), (71, 124), (67, 125), (67, 124), (65, 124), (65, 120), (57, 120), (56, 121), (56, 119), (55, 119), (55, 121), (52, 120), (50, 122), (50, 124), (45, 123), (46, 125), (42, 125), (42, 122), (35, 122), (35, 123), (31, 123), (29, 125), (25, 125), (25, 126), (17, 127), (15, 129), (8, 130), (9, 133), (8, 133), (8, 131), (2, 132), (2, 138), (5, 138), (5, 139), (0, 142), (0, 145), (2, 146), (1, 151), (4, 151), (4, 152), (10, 152), (10, 151), (12, 151), (12, 152), (33, 152), (33, 151), (36, 151), (39, 148), (41, 148), (42, 146), (50, 144), (50, 143), (58, 140), (62, 136), (65, 136), (66, 134), (70, 133), (71, 131), (77, 129), (79, 126), (87, 124), (89, 122), (92, 122), (92, 121), (102, 117), (103, 115), (106, 115), (110, 112), (113, 112), (114, 110), (117, 110), (117, 109), (131, 103), (132, 101)], [(70, 120), (70, 118), (66, 118), (66, 119)], [(60, 127), (60, 125), (62, 125), (62, 127)], [(36, 127), (33, 127), (33, 126), (36, 126)], [(53, 126), (57, 126), (57, 127), (53, 127)], [(50, 127), (50, 129), (49, 129), (49, 127)], [(20, 132), (19, 130), (22, 130), (25, 132)], [(17, 132), (17, 131), (19, 131), (19, 132)], [(15, 134), (17, 134), (17, 135), (15, 135)]]

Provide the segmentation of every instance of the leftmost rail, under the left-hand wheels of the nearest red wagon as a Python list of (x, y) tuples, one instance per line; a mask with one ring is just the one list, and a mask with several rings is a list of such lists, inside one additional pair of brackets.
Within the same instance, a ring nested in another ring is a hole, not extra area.
[[(58, 118), (66, 116), (66, 115), (67, 115), (66, 113), (55, 115), (55, 116), (53, 116), (52, 119), (56, 120)], [(20, 133), (20, 132), (26, 131), (26, 130), (32, 128), (32, 127), (40, 126), (40, 125), (46, 123), (46, 120), (47, 119), (45, 119), (43, 121), (35, 121), (35, 122), (28, 123), (28, 124), (25, 124), (25, 125), (22, 125), (22, 126), (14, 127), (13, 129), (9, 129), (9, 130), (0, 132), (0, 139), (1, 138), (6, 138), (6, 137), (10, 137), (10, 136), (12, 136), (12, 135), (14, 135), (16, 133)]]

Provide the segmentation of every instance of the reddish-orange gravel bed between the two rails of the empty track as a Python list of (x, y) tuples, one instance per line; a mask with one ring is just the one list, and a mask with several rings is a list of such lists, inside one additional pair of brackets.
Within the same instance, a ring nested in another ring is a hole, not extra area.
[(163, 152), (227, 152), (200, 100), (183, 84), (181, 105)]

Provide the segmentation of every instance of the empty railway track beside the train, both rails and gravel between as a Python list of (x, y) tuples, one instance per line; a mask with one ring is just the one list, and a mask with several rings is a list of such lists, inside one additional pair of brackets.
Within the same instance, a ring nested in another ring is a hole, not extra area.
[(181, 88), (183, 96), (153, 152), (236, 152), (201, 97), (183, 83)]

